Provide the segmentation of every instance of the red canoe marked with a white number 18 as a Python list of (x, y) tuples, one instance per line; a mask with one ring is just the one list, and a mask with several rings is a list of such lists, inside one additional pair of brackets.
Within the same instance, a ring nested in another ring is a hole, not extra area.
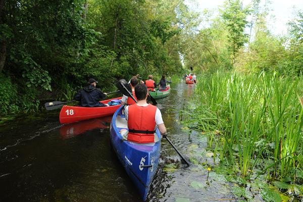
[[(115, 97), (100, 101), (107, 104), (113, 99), (121, 99), (122, 97)], [(94, 119), (99, 117), (106, 117), (113, 115), (121, 105), (114, 105), (109, 107), (85, 108), (77, 106), (63, 106), (61, 109), (59, 119), (60, 123), (72, 123), (76, 121), (83, 121), (87, 119)]]

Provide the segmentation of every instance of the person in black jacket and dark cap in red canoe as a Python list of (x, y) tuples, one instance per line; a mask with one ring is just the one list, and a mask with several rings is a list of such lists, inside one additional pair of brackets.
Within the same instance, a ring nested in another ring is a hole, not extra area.
[(97, 81), (93, 78), (88, 80), (89, 85), (80, 89), (75, 95), (75, 99), (80, 102), (81, 107), (106, 107), (107, 104), (99, 102), (99, 99), (106, 97), (107, 93), (103, 93), (96, 88)]

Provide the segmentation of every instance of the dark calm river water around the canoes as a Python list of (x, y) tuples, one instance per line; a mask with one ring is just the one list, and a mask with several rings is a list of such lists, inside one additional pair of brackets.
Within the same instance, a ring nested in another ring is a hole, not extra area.
[[(178, 121), (194, 86), (180, 81), (171, 87), (168, 97), (157, 100), (169, 137), (186, 158), (198, 155), (207, 162), (206, 137), (184, 130)], [(59, 112), (43, 111), (1, 125), (0, 201), (140, 201), (112, 150), (111, 117), (61, 125)], [(167, 165), (175, 169), (167, 172)], [(207, 175), (204, 168), (182, 164), (164, 139), (147, 201), (231, 197), (220, 177), (210, 175), (207, 181)]]

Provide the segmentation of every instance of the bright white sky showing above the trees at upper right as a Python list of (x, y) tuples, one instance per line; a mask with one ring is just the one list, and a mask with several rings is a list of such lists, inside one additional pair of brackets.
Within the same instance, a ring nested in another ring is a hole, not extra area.
[[(214, 9), (218, 14), (218, 7), (223, 5), (225, 0), (186, 0), (186, 4), (197, 12), (205, 9)], [(266, 0), (261, 0), (261, 6)], [(247, 6), (251, 0), (242, 0), (243, 6)], [(272, 34), (283, 35), (287, 33), (287, 22), (295, 18), (295, 11), (303, 11), (303, 0), (271, 0), (269, 4), (269, 16), (267, 26)]]

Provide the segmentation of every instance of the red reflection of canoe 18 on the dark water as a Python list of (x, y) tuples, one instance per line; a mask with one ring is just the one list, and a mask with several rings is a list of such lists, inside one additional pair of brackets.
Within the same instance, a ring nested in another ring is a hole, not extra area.
[[(112, 117), (102, 117), (98, 119), (90, 119), (79, 121), (71, 124), (64, 124), (60, 127), (60, 135), (63, 139), (81, 135), (86, 131), (92, 129), (105, 129), (109, 128)], [(102, 132), (102, 131), (101, 131)]]

